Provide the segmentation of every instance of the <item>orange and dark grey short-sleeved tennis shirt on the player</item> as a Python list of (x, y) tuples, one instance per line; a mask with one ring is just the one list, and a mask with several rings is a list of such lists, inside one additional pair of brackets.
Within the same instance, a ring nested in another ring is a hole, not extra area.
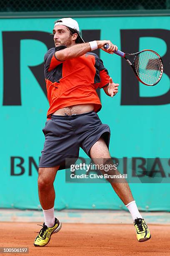
[(60, 108), (78, 104), (94, 104), (94, 111), (100, 111), (102, 105), (96, 89), (109, 83), (109, 74), (102, 60), (94, 53), (60, 61), (55, 51), (66, 48), (51, 48), (44, 56), (45, 81), (50, 108), (47, 118)]

